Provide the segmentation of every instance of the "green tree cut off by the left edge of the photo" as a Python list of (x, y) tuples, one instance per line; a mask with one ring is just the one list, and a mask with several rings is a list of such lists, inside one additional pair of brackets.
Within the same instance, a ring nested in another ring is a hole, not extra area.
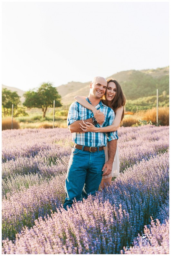
[(14, 109), (16, 109), (19, 103), (20, 96), (16, 91), (10, 91), (6, 88), (2, 89), (2, 110), (4, 117), (12, 111), (12, 104), (14, 104)]

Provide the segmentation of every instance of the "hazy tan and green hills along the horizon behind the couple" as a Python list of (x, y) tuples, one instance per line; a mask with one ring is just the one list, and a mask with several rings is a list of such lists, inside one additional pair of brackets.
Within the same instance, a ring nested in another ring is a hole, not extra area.
[[(121, 71), (108, 78), (119, 81), (127, 100), (154, 96), (156, 95), (156, 89), (158, 89), (159, 95), (162, 95), (163, 91), (166, 91), (167, 96), (169, 94), (169, 67)], [(62, 104), (70, 105), (76, 95), (87, 96), (89, 94), (89, 84), (90, 81), (86, 83), (71, 81), (56, 87), (62, 96)], [(22, 90), (5, 85), (2, 88), (17, 91), (20, 96), (23, 96), (24, 93)], [(21, 101), (24, 101), (24, 97), (21, 98)]]

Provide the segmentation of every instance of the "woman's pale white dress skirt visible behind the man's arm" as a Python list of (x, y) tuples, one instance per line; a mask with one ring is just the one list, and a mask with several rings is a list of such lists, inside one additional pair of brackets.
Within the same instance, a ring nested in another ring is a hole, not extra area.
[[(105, 163), (108, 161), (108, 146), (105, 147), (104, 149), (105, 151)], [(103, 171), (103, 173), (105, 173), (105, 170)], [(118, 150), (118, 144), (117, 144), (117, 148), (116, 148), (116, 154), (115, 154), (115, 158), (113, 161), (113, 166), (112, 166), (112, 171), (109, 175), (106, 176), (102, 176), (102, 179), (107, 179), (109, 177), (117, 177), (119, 176), (119, 150)]]

